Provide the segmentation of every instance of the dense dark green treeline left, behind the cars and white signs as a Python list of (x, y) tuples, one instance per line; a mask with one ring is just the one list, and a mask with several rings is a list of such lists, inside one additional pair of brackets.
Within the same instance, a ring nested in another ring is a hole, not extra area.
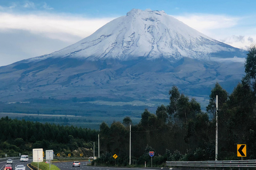
[(67, 156), (80, 147), (91, 149), (92, 141), (98, 139), (96, 130), (12, 120), (7, 116), (0, 119), (0, 134), (0, 157), (19, 156), (19, 153), (31, 156), (33, 148), (52, 149)]

